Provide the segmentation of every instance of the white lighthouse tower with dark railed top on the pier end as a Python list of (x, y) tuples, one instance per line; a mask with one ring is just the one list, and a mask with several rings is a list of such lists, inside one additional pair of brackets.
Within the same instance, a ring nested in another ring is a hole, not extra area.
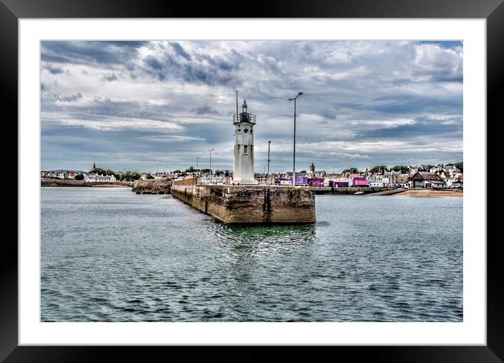
[[(237, 107), (238, 112), (238, 107)], [(254, 180), (253, 167), (253, 127), (256, 115), (247, 111), (247, 101), (241, 106), (241, 113), (233, 115), (234, 125), (234, 167), (232, 184), (258, 184)]]

